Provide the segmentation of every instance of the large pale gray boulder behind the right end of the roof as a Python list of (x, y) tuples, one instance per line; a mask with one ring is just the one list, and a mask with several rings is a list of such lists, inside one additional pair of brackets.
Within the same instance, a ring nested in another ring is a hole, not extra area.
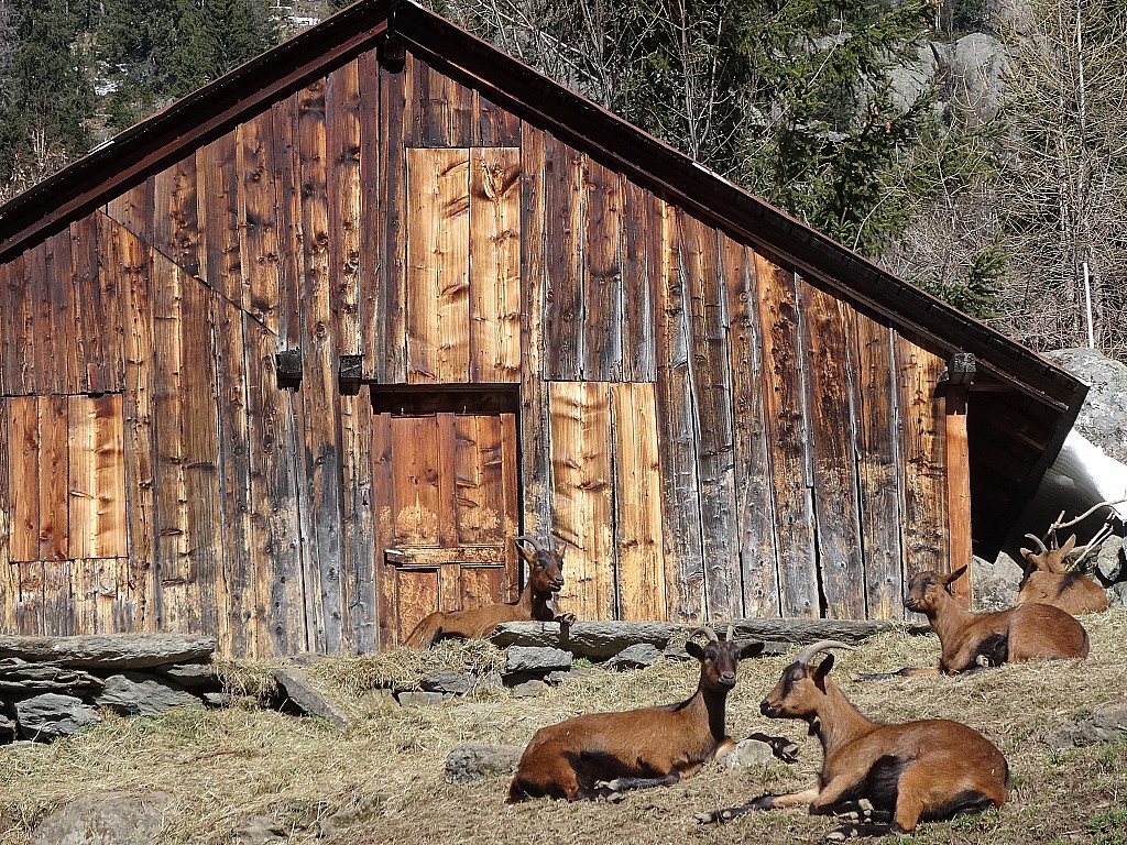
[(1089, 384), (1075, 428), (1104, 454), (1127, 463), (1127, 364), (1095, 349), (1057, 349), (1042, 355)]

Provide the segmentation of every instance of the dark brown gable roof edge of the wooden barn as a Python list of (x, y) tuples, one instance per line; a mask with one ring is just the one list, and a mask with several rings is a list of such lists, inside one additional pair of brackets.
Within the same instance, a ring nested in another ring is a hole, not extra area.
[(361, 0), (0, 206), (0, 263), (389, 37), (667, 202), (779, 256), (915, 343), (948, 356), (974, 354), (980, 374), (1057, 417), (1024, 487), (1036, 486), (1059, 451), (1088, 391), (1082, 382), (410, 0)]

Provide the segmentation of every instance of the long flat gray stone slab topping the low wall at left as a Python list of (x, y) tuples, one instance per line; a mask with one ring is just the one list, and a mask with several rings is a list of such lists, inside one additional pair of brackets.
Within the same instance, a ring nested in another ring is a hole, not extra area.
[(215, 651), (211, 637), (136, 633), (87, 637), (0, 637), (0, 658), (80, 669), (145, 669), (207, 660)]

